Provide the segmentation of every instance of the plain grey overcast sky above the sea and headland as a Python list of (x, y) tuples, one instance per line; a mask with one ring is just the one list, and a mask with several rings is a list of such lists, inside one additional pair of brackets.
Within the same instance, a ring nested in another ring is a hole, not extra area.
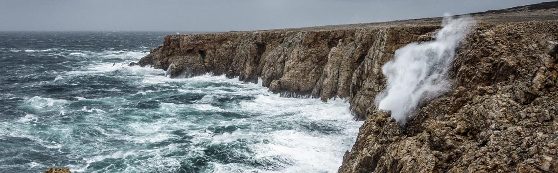
[(0, 31), (246, 31), (439, 17), (540, 0), (0, 0)]

